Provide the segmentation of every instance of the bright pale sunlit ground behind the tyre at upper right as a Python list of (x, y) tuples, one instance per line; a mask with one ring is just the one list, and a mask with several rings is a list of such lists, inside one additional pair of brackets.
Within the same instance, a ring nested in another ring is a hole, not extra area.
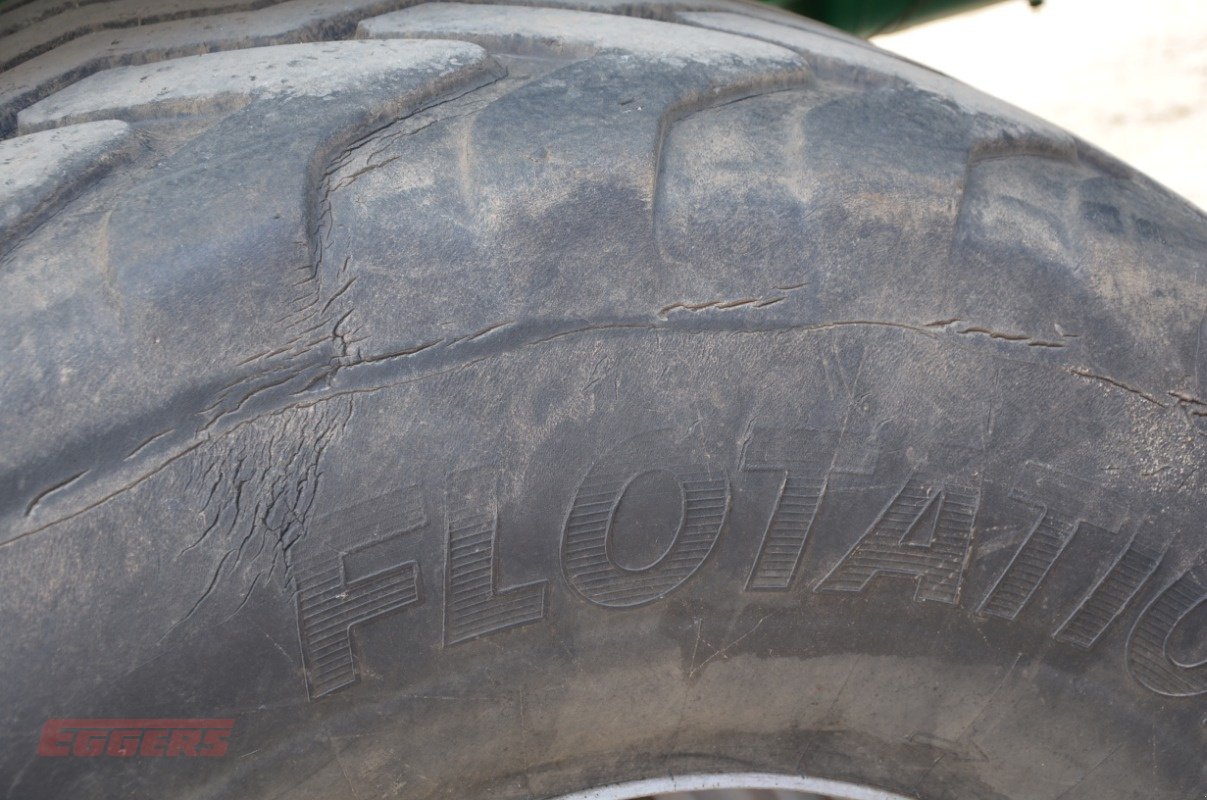
[(1026, 0), (874, 40), (1092, 141), (1207, 209), (1207, 0)]

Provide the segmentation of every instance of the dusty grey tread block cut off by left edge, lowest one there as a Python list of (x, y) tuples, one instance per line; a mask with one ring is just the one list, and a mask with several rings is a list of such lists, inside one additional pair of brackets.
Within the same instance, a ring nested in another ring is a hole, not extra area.
[(106, 119), (0, 141), (0, 241), (128, 152), (130, 127)]

